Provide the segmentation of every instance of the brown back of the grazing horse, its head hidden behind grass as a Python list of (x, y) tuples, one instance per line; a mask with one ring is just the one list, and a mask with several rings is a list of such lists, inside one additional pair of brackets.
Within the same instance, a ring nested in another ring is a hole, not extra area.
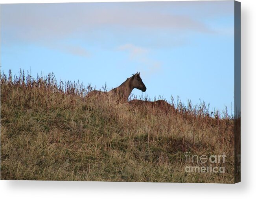
[(174, 107), (166, 102), (165, 100), (157, 100), (157, 101), (145, 101), (145, 100), (138, 100), (134, 99), (128, 102), (133, 107), (138, 108), (146, 108), (150, 107), (155, 110), (160, 110), (168, 113), (171, 110), (174, 110)]

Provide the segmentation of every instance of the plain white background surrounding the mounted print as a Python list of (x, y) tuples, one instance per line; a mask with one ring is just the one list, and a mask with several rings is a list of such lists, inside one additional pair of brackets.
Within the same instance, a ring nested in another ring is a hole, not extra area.
[[(116, 0), (110, 0), (117, 2)], [(129, 0), (126, 0), (129, 1)], [(142, 0), (143, 1), (143, 0)], [(109, 0), (0, 0), (0, 3), (109, 2)], [(1, 198), (252, 198), (256, 196), (255, 0), (241, 0), (241, 183), (107, 183), (0, 181)]]

